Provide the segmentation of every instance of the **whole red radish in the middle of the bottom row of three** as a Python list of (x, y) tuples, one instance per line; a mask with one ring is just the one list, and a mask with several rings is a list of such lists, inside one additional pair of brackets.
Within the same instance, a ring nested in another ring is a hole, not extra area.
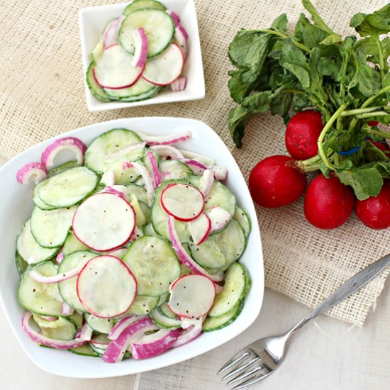
[(355, 196), (350, 186), (340, 183), (335, 175), (327, 179), (318, 174), (308, 185), (305, 196), (305, 217), (320, 229), (334, 229), (350, 218)]

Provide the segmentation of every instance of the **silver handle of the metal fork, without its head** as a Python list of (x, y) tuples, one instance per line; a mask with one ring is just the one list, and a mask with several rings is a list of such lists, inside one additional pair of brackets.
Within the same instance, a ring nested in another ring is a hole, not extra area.
[(383, 271), (390, 264), (390, 254), (382, 257), (381, 259), (373, 262), (368, 267), (362, 269), (362, 271), (355, 274), (353, 277), (347, 280), (342, 284), (336, 291), (328, 296), (325, 301), (320, 303), (316, 308), (313, 309), (308, 315), (303, 318), (299, 323), (294, 325), (288, 332), (286, 332), (286, 337), (290, 338), (296, 330), (299, 330), (303, 325), (308, 323), (308, 321), (313, 320), (320, 314), (324, 313), (331, 307), (337, 305), (341, 301), (344, 301), (348, 296), (354, 294), (356, 291), (360, 290), (364, 285), (369, 281), (374, 279), (381, 271)]

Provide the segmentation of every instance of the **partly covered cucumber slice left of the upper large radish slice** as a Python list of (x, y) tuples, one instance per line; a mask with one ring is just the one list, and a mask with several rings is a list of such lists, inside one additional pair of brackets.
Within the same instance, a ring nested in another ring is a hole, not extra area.
[(67, 238), (76, 210), (77, 206), (55, 210), (41, 210), (35, 206), (30, 220), (31, 233), (35, 241), (40, 246), (48, 248), (61, 246)]

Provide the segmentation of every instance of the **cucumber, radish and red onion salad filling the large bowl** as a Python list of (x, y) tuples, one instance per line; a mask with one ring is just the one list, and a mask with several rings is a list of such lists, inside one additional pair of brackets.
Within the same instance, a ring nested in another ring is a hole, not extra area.
[[(142, 1), (142, 0), (138, 0)], [(23, 330), (104, 362), (145, 359), (240, 315), (250, 220), (227, 169), (182, 150), (189, 130), (114, 128), (87, 147), (60, 138), (16, 179), (33, 212), (16, 238)], [(63, 150), (74, 161), (56, 165)]]

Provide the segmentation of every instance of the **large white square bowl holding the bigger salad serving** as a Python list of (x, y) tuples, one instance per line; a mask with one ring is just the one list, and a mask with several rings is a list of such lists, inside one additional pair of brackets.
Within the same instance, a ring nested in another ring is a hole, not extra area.
[(66, 350), (42, 348), (30, 340), (21, 328), (21, 317), (24, 310), (18, 303), (17, 291), (20, 277), (15, 264), (16, 235), (23, 223), (30, 217), (33, 209), (32, 187), (16, 182), (16, 172), (28, 162), (40, 161), (40, 155), (54, 138), (35, 145), (14, 157), (0, 169), (0, 183), (4, 191), (0, 191), (0, 302), (6, 313), (18, 342), (30, 360), (38, 367), (51, 374), (74, 378), (104, 378), (135, 374), (158, 369), (184, 360), (191, 359), (213, 348), (228, 342), (248, 328), (260, 313), (264, 292), (264, 271), (262, 260), (262, 244), (253, 206), (245, 179), (233, 156), (221, 138), (205, 123), (186, 118), (123, 118), (115, 121), (96, 123), (94, 125), (69, 131), (62, 136), (81, 139), (86, 145), (101, 133), (111, 128), (130, 128), (151, 135), (176, 133), (190, 129), (192, 139), (179, 144), (187, 150), (210, 155), (216, 164), (228, 168), (228, 178), (224, 184), (233, 192), (237, 204), (247, 211), (252, 222), (252, 231), (247, 247), (240, 259), (250, 272), (252, 287), (245, 300), (243, 311), (238, 318), (221, 330), (203, 333), (196, 340), (182, 347), (168, 350), (162, 355), (147, 360), (124, 360), (118, 364), (108, 364), (96, 357), (74, 355)]

